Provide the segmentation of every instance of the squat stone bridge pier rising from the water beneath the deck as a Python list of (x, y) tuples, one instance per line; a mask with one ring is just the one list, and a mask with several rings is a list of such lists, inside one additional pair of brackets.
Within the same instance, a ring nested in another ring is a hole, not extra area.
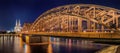
[(49, 43), (50, 37), (39, 36), (39, 35), (22, 35), (22, 40), (27, 43)]

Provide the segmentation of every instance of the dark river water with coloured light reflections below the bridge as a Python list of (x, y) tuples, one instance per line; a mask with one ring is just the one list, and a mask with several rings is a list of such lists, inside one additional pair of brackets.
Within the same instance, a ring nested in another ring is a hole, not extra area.
[(23, 42), (20, 37), (0, 36), (0, 53), (100, 53), (104, 50), (114, 51), (116, 47), (118, 46), (93, 43), (78, 38), (58, 37), (51, 37), (49, 44), (30, 45)]

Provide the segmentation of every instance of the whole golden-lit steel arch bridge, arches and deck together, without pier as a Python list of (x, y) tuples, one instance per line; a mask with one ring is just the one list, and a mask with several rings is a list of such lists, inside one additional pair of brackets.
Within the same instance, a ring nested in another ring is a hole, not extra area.
[(120, 10), (93, 4), (71, 4), (50, 9), (33, 23), (25, 23), (23, 34), (90, 38), (120, 38)]

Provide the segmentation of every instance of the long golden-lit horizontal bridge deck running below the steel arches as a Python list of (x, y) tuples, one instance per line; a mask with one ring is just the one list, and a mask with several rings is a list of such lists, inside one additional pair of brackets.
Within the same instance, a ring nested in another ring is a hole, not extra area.
[(23, 33), (27, 35), (40, 35), (40, 36), (59, 36), (59, 37), (81, 37), (81, 38), (111, 38), (119, 39), (118, 33), (105, 33), (105, 32), (29, 32)]

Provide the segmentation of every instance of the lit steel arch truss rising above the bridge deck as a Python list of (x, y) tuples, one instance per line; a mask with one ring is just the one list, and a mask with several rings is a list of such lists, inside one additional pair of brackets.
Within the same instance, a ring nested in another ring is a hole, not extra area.
[(114, 8), (73, 4), (48, 10), (40, 15), (30, 30), (36, 32), (104, 31), (111, 24), (119, 27), (120, 11)]

